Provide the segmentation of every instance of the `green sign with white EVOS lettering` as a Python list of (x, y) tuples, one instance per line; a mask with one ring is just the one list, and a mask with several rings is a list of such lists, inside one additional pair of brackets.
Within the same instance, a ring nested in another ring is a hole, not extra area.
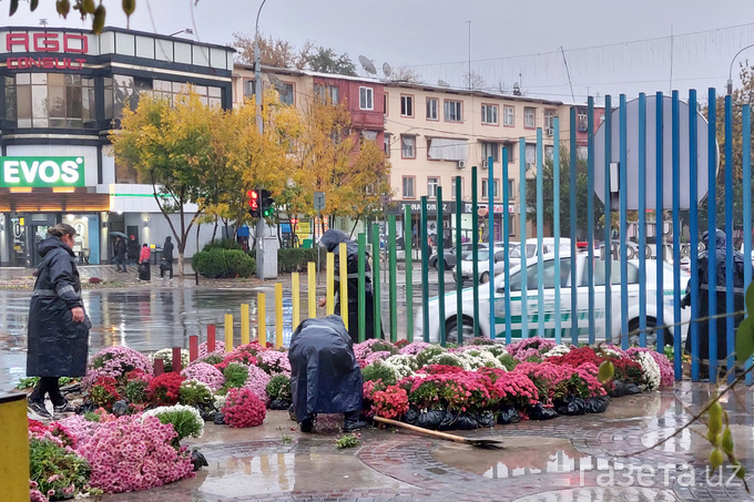
[(84, 186), (84, 158), (0, 157), (0, 186)]

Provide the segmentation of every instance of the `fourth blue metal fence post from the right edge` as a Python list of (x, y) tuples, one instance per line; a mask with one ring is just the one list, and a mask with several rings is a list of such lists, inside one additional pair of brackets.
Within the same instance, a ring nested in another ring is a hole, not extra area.
[[(689, 234), (691, 270), (699, 270), (699, 147), (696, 141), (696, 90), (689, 91)], [(691, 380), (699, 381), (699, 274), (691, 274), (691, 319), (689, 336), (691, 337)]]

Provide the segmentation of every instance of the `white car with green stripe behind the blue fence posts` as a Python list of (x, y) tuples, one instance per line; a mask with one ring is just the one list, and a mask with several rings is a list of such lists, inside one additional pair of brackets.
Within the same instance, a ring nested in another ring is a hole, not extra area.
[[(560, 313), (561, 313), (561, 335), (563, 339), (571, 339), (571, 256), (563, 255), (560, 257)], [(588, 276), (588, 255), (577, 254), (577, 308), (579, 313), (579, 340), (589, 340), (589, 327), (587, 321), (582, 320), (583, 317), (589, 311), (589, 276)], [(645, 273), (646, 273), (646, 326), (656, 326), (656, 260), (648, 259), (645, 262)], [(629, 330), (633, 331), (639, 328), (639, 262), (629, 260), (628, 263), (628, 288), (629, 288)], [(682, 275), (681, 280), (681, 291), (676, 293), (673, 290), (673, 273), (672, 266), (669, 264), (663, 264), (663, 319), (665, 324), (674, 322), (674, 301), (680, 301), (683, 293), (686, 288), (686, 283), (690, 279), (687, 274)], [(544, 336), (552, 338), (554, 337), (554, 314), (556, 314), (556, 267), (554, 267), (554, 255), (548, 255), (543, 257), (542, 263), (542, 276), (543, 281), (543, 305), (544, 311), (539, 313), (547, 319), (544, 322)], [(605, 306), (605, 288), (604, 288), (604, 262), (601, 259), (594, 260), (594, 318), (595, 318), (595, 339), (605, 339), (605, 322), (604, 322), (604, 306)], [(620, 344), (621, 340), (621, 270), (620, 267), (611, 268), (612, 284), (611, 289), (612, 295), (610, 301), (612, 303), (612, 317), (610, 326), (610, 340), (614, 344)], [(511, 270), (510, 275), (510, 303), (511, 303), (511, 337), (521, 337), (521, 315), (522, 315), (522, 301), (521, 301), (521, 279), (522, 276), (526, 278), (528, 288), (528, 336), (537, 336), (538, 334), (538, 279), (540, 278), (538, 273), (538, 263), (532, 262), (528, 264), (524, 274), (521, 273), (521, 267), (518, 266), (516, 269)], [(505, 311), (505, 277), (502, 275), (497, 275), (495, 277), (496, 293), (495, 293), (495, 311), (496, 311), (496, 325), (495, 332), (497, 337), (505, 337), (506, 330), (506, 311)], [(462, 313), (460, 316), (457, 313), (457, 300), (456, 293), (451, 291), (446, 294), (445, 300), (445, 319), (440, 319), (439, 316), (439, 299), (437, 297), (430, 299), (429, 308), (429, 339), (430, 341), (438, 341), (440, 334), (440, 322), (445, 322), (446, 327), (446, 340), (449, 342), (455, 342), (457, 338), (457, 326), (458, 322), (462, 322), (463, 337), (473, 336), (473, 291), (471, 288), (467, 288), (462, 291)], [(489, 288), (479, 289), (479, 329), (481, 330), (481, 336), (490, 337), (490, 324), (489, 324)], [(689, 309), (681, 311), (681, 320), (687, 320), (691, 314)], [(416, 314), (416, 325), (414, 337), (416, 339), (421, 339), (422, 336), (422, 316), (421, 309), (419, 308)], [(684, 325), (684, 336), (687, 325)], [(668, 331), (663, 331), (664, 342), (672, 344), (672, 335)], [(638, 342), (639, 336), (633, 336), (631, 342)], [(646, 342), (648, 345), (654, 344), (655, 335), (653, 332), (648, 334)]]

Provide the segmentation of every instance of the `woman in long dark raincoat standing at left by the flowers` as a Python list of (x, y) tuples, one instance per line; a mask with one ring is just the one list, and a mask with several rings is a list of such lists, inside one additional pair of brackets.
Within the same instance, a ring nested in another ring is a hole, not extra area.
[(73, 411), (60, 392), (60, 377), (83, 377), (86, 372), (91, 321), (81, 301), (81, 280), (75, 266), (75, 229), (64, 223), (48, 228), (49, 237), (37, 245), (42, 257), (29, 306), (29, 351), (27, 376), (40, 377), (29, 396), (29, 409), (43, 419), (52, 416), (44, 407), (50, 396), (57, 413)]

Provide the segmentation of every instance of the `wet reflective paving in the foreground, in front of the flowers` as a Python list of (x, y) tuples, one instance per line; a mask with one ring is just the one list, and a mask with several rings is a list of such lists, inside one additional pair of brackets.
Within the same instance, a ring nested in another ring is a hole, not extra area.
[[(686, 423), (709, 399), (704, 383), (614, 399), (603, 414), (523, 421), (459, 432), (503, 441), (481, 450), (404, 430), (361, 432), (359, 447), (338, 450), (339, 417), (303, 434), (287, 413), (268, 411), (264, 424), (230, 429), (206, 424), (194, 440), (210, 465), (195, 478), (103, 502), (159, 501), (742, 501), (742, 483), (706, 472), (709, 443), (701, 427), (651, 448)], [(752, 391), (731, 410), (736, 454), (754, 481)], [(644, 451), (645, 449), (649, 451)]]

